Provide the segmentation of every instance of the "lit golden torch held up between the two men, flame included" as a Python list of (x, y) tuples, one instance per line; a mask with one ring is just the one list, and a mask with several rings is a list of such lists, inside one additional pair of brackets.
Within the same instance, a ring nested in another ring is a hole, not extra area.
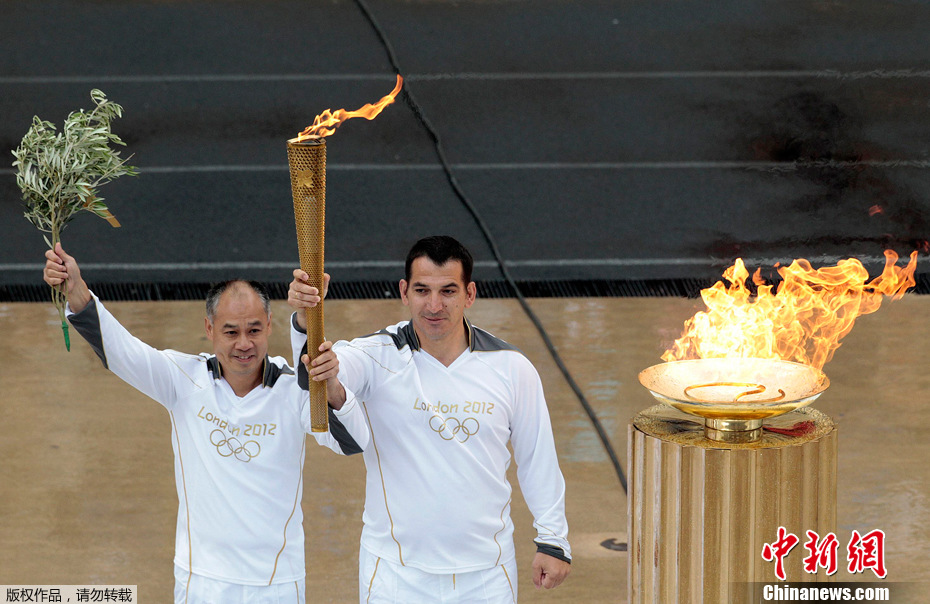
[[(373, 120), (394, 102), (403, 78), (397, 76), (394, 90), (380, 101), (355, 111), (327, 109), (303, 132), (287, 141), (287, 163), (291, 172), (291, 193), (294, 197), (294, 222), (297, 224), (297, 249), (300, 268), (310, 277), (308, 284), (323, 291), (323, 252), (326, 235), (326, 141), (324, 137), (336, 131), (342, 122), (353, 117)], [(307, 353), (319, 354), (326, 339), (323, 332), (323, 303), (306, 309)], [(329, 429), (329, 406), (326, 382), (310, 381), (310, 423), (313, 432)]]

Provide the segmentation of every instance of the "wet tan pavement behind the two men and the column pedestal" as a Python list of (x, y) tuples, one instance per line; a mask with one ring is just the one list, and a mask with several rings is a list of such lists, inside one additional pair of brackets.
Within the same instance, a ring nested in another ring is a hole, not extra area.
[[(627, 425), (654, 400), (637, 373), (700, 302), (679, 298), (532, 299), (566, 365), (626, 467)], [(195, 302), (108, 305), (158, 348), (209, 350)], [(273, 305), (272, 354), (288, 354), (287, 306)], [(405, 318), (394, 300), (331, 301), (327, 334), (369, 333)], [(905, 296), (860, 317), (826, 367), (830, 388), (815, 407), (839, 430), (837, 537), (886, 534), (888, 581), (930, 581), (930, 297)], [(623, 602), (626, 497), (592, 424), (542, 340), (513, 300), (479, 300), (471, 320), (524, 351), (539, 370), (563, 474), (575, 560), (565, 585), (548, 593), (530, 582), (532, 519), (515, 486), (523, 602)], [(170, 422), (162, 407), (102, 368), (83, 342), (64, 350), (46, 304), (0, 304), (0, 581), (25, 584), (137, 584), (144, 602), (171, 597), (174, 489)], [(512, 469), (513, 470), (513, 469)], [(511, 472), (513, 474), (513, 472)], [(516, 485), (515, 476), (511, 476)], [(303, 507), (310, 602), (356, 598), (364, 468), (310, 447)], [(774, 541), (775, 536), (772, 536)], [(842, 549), (842, 547), (841, 547)], [(840, 552), (841, 566), (845, 553)], [(871, 571), (837, 580), (874, 580)]]

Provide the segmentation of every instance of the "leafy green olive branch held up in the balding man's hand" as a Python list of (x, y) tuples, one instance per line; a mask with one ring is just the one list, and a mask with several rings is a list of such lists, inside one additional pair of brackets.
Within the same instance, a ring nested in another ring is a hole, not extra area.
[[(19, 147), (13, 151), (16, 161), (16, 184), (23, 193), (25, 217), (42, 235), (51, 249), (61, 241), (61, 232), (68, 222), (82, 211), (104, 218), (112, 226), (120, 226), (116, 217), (97, 194), (97, 188), (124, 174), (136, 176), (129, 158), (120, 159), (110, 143), (125, 146), (110, 131), (110, 122), (122, 117), (123, 108), (107, 100), (100, 90), (90, 92), (96, 104), (93, 111), (72, 112), (65, 119), (61, 132), (51, 122), (32, 118)], [(130, 156), (131, 157), (131, 156)], [(64, 284), (52, 287), (52, 302), (61, 318), (65, 347), (71, 350), (68, 323), (65, 320)]]

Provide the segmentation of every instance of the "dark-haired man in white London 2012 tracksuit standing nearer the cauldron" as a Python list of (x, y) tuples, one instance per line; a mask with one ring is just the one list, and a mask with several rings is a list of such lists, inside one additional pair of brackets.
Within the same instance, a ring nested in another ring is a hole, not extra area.
[[(455, 239), (421, 239), (399, 284), (411, 319), (332, 348), (329, 398), (357, 397), (371, 430), (360, 602), (517, 601), (508, 441), (538, 532), (533, 582), (556, 587), (571, 568), (542, 384), (522, 353), (465, 318), (472, 265)], [(318, 300), (307, 279), (294, 271), (288, 303), (298, 311)], [(300, 337), (303, 312), (291, 324)]]

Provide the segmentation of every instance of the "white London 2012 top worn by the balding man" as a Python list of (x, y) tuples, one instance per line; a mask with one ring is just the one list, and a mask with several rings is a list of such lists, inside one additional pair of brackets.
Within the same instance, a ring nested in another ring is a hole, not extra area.
[[(171, 417), (178, 519), (175, 564), (243, 585), (305, 576), (303, 463), (309, 396), (281, 357), (266, 357), (262, 385), (235, 395), (212, 354), (156, 350), (130, 334), (94, 296), (68, 317), (105, 367)], [(337, 453), (368, 443), (361, 409), (330, 409)], [(340, 440), (334, 433), (340, 433)]]

